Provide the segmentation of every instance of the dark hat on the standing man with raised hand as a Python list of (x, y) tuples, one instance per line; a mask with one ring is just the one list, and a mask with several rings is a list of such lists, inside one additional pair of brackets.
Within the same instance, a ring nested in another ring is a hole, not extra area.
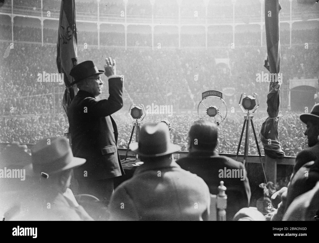
[(72, 82), (71, 85), (76, 84), (81, 80), (91, 77), (95, 74), (104, 74), (104, 71), (98, 70), (93, 61), (81, 62), (71, 69), (70, 75), (74, 78), (74, 82)]

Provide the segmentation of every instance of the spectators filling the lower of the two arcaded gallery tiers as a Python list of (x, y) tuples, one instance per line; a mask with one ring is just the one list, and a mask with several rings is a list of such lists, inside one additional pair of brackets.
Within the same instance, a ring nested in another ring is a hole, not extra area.
[[(1, 40), (11, 40), (11, 26), (0, 25), (2, 31), (0, 34)], [(94, 29), (96, 29), (94, 27)], [(177, 27), (176, 27), (177, 31)], [(149, 30), (150, 32), (150, 30)], [(41, 43), (41, 28), (39, 27), (19, 27), (14, 26), (13, 38), (15, 41), (28, 41), (28, 42), (40, 42)], [(311, 45), (317, 43), (317, 36), (319, 35), (319, 28), (312, 30), (292, 30), (292, 45), (300, 45), (308, 43)], [(43, 28), (43, 42), (44, 43), (56, 43), (57, 30), (50, 28)], [(224, 47), (230, 48), (233, 42), (233, 34), (229, 33), (214, 33), (213, 30), (209, 30), (207, 35), (207, 46), (210, 48)], [(86, 31), (81, 27), (78, 27), (78, 43), (83, 45), (97, 45), (98, 38), (96, 31)], [(283, 47), (290, 44), (290, 32), (289, 30), (281, 30), (280, 32), (280, 43)], [(154, 47), (158, 48), (178, 48), (178, 34), (168, 33), (154, 33)], [(182, 29), (181, 33), (181, 47), (205, 47), (205, 34), (190, 34), (187, 30)], [(242, 46), (256, 46), (260, 47), (260, 32), (235, 32), (235, 44), (234, 47)], [(265, 33), (263, 33), (263, 45), (266, 44)], [(100, 45), (102, 46), (121, 46), (125, 45), (125, 34), (115, 32), (104, 32), (103, 25), (100, 32)], [(127, 34), (127, 46), (128, 47), (152, 47), (152, 35), (149, 34), (138, 34), (128, 33)]]

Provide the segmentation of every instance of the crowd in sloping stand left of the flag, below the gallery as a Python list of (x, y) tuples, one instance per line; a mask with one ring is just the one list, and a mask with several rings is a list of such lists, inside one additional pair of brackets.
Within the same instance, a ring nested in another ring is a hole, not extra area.
[[(2, 50), (9, 53), (8, 57), (2, 56), (1, 115), (51, 113), (54, 110), (51, 94), (54, 89), (57, 93), (63, 92), (64, 85), (58, 82), (38, 82), (38, 74), (57, 72), (54, 58), (56, 48), (15, 44), (13, 49), (3, 45)], [(58, 97), (56, 102), (61, 103)]]

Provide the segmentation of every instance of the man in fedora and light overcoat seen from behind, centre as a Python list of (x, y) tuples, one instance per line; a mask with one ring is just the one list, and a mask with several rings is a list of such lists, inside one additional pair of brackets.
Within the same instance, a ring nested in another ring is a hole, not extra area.
[(144, 164), (116, 188), (109, 204), (111, 220), (208, 219), (209, 189), (170, 159), (180, 147), (170, 142), (166, 124), (145, 124), (130, 148)]

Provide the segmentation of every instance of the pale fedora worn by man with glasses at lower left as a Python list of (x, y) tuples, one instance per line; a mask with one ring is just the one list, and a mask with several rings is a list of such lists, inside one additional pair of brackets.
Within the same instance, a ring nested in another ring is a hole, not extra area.
[(83, 165), (86, 161), (73, 157), (69, 142), (64, 137), (48, 137), (40, 140), (34, 145), (31, 157), (33, 171), (48, 175)]

